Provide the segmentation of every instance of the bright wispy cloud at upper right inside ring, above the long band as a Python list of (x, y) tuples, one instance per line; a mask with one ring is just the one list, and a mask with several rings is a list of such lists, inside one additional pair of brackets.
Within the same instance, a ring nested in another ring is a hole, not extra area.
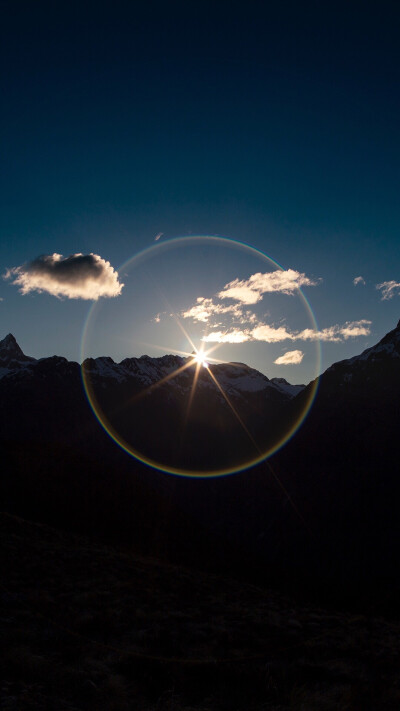
[(293, 294), (301, 286), (316, 286), (320, 279), (310, 279), (294, 269), (277, 269), (275, 272), (252, 274), (248, 279), (234, 279), (218, 293), (220, 299), (234, 299), (243, 304), (257, 304), (263, 294), (280, 292)]

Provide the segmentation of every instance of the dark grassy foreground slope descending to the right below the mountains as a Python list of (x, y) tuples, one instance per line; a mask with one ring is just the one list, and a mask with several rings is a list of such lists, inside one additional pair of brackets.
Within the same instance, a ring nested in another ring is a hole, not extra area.
[(400, 623), (2, 514), (1, 709), (400, 708)]

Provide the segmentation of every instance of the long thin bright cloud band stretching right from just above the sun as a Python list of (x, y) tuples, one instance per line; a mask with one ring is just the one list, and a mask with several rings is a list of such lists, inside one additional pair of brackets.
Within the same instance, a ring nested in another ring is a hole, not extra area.
[(284, 326), (270, 326), (260, 323), (253, 329), (239, 331), (212, 331), (202, 338), (203, 341), (212, 343), (244, 343), (245, 341), (263, 341), (264, 343), (280, 343), (281, 341), (325, 341), (342, 343), (348, 338), (368, 336), (371, 333), (371, 321), (347, 321), (343, 326), (335, 325), (314, 331), (306, 328), (303, 331), (288, 331)]

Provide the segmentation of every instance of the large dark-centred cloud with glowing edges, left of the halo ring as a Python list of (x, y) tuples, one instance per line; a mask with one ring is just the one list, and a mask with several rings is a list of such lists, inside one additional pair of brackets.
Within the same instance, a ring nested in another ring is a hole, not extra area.
[(20, 267), (8, 269), (4, 276), (20, 287), (21, 294), (47, 292), (68, 299), (119, 296), (124, 286), (118, 272), (98, 254), (44, 254)]

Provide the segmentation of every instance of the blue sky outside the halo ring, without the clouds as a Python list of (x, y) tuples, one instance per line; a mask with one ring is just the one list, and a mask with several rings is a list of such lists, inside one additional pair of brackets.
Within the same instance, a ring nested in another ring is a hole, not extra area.
[[(117, 268), (158, 232), (221, 234), (321, 278), (321, 328), (372, 322), (370, 338), (327, 344), (325, 364), (395, 325), (398, 292), (375, 287), (400, 280), (397, 3), (0, 12), (3, 272), (53, 252)], [(10, 281), (0, 296), (25, 350), (78, 357), (87, 302)]]

